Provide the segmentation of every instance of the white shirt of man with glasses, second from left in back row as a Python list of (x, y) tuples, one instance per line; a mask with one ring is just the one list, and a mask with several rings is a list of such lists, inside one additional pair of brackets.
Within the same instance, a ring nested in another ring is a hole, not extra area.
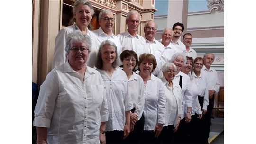
[(101, 45), (101, 42), (103, 42), (105, 40), (110, 40), (110, 41), (112, 41), (112, 42), (114, 42), (116, 44), (118, 56), (121, 54), (121, 52), (122, 52), (122, 45), (121, 45), (118, 37), (115, 36), (112, 33), (112, 31), (111, 31), (110, 36), (108, 36), (106, 33), (104, 33), (104, 31), (102, 30), (101, 27), (99, 29), (93, 30), (92, 32), (97, 36), (97, 42), (98, 42), (99, 46)]

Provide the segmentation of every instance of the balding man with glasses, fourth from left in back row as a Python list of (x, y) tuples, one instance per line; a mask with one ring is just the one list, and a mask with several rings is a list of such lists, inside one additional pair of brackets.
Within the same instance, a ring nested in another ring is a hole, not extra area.
[(161, 55), (163, 54), (165, 47), (159, 41), (155, 40), (154, 36), (157, 30), (155, 21), (147, 21), (144, 27), (144, 33), (146, 37), (146, 47), (150, 50), (150, 54), (153, 54), (156, 58), (157, 66), (153, 74), (155, 76), (161, 72)]

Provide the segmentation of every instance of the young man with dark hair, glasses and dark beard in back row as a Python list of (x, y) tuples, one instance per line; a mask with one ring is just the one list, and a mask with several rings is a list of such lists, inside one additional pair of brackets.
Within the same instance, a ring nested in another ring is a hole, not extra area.
[(171, 44), (181, 49), (182, 51), (186, 50), (186, 46), (180, 40), (180, 36), (184, 31), (184, 25), (182, 23), (177, 22), (173, 25), (173, 30), (174, 36), (172, 38)]

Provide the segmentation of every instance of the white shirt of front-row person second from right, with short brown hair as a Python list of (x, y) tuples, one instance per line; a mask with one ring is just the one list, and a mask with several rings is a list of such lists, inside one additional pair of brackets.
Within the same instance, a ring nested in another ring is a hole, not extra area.
[(204, 73), (200, 72), (199, 76), (196, 76), (194, 71), (192, 71), (192, 94), (193, 96), (200, 96), (203, 98), (203, 107), (201, 109), (207, 110), (209, 105), (209, 95), (208, 95), (208, 84), (207, 77)]

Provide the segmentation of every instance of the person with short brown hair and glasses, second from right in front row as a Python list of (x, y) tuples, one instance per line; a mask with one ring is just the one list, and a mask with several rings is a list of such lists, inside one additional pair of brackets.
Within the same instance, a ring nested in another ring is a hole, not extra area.
[[(207, 106), (209, 104), (209, 95), (208, 95), (208, 89), (207, 89), (207, 77), (201, 72), (201, 69), (203, 67), (203, 59), (201, 57), (195, 58), (193, 62), (193, 68), (192, 68), (192, 94), (193, 97), (197, 96), (202, 114), (206, 114), (207, 112)], [(204, 137), (203, 134), (203, 127), (204, 127), (204, 120), (203, 116), (200, 118), (200, 113), (193, 116), (193, 122), (192, 122), (192, 135), (191, 135), (191, 141), (192, 143), (196, 144), (202, 144), (204, 143)]]

